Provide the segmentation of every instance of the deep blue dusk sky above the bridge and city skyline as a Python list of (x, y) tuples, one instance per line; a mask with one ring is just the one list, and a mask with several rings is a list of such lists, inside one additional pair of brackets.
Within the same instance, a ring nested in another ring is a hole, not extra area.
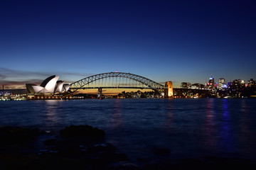
[(255, 1), (2, 0), (0, 25), (0, 85), (116, 70), (176, 86), (256, 79)]

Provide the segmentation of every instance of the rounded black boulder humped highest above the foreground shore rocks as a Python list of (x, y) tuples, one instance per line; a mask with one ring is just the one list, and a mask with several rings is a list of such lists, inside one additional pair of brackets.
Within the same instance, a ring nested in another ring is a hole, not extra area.
[(103, 137), (105, 132), (98, 128), (92, 128), (90, 125), (70, 125), (60, 130), (60, 135), (63, 137)]

